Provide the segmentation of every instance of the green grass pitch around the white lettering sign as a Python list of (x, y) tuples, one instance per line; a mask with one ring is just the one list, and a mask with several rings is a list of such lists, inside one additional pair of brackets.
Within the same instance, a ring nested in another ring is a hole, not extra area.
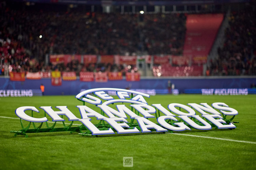
[[(224, 102), (237, 109), (239, 114), (233, 121), (239, 123), (234, 130), (178, 132), (213, 138), (168, 133), (88, 137), (69, 132), (14, 137), (10, 131), (21, 129), (19, 120), (4, 117), (17, 118), (16, 108), (67, 105), (72, 113), (80, 117), (75, 106), (82, 103), (74, 96), (0, 98), (0, 169), (256, 169), (255, 95), (157, 95), (146, 101), (148, 104), (160, 103), (165, 108), (170, 103)], [(42, 112), (42, 109), (39, 111)], [(43, 112), (38, 117), (42, 115)], [(74, 123), (81, 124), (78, 121)], [(123, 167), (123, 157), (130, 156), (133, 157), (133, 167)]]

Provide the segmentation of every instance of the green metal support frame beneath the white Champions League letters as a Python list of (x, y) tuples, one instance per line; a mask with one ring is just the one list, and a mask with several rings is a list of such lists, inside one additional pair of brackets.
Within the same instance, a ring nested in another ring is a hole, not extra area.
[[(133, 97), (133, 94), (131, 94), (131, 98), (132, 97)], [(83, 105), (85, 105), (85, 101), (82, 101), (80, 99), (77, 99), (77, 100), (83, 102)], [(156, 119), (157, 119), (158, 117), (160, 117), (160, 111), (156, 107), (155, 107), (155, 109), (156, 109), (155, 116), (156, 116)], [(181, 111), (181, 108), (179, 110)], [(133, 107), (131, 107), (131, 111), (133, 112)], [(136, 109), (134, 111), (135, 111), (135, 114), (139, 115), (139, 112), (137, 112)], [(102, 110), (101, 110), (100, 113), (103, 116), (105, 114)], [(45, 112), (44, 112), (44, 116), (46, 116)], [(31, 111), (31, 117), (33, 117), (33, 111)], [(234, 119), (235, 115), (232, 116), (230, 119), (227, 119), (227, 115), (224, 115), (224, 114), (222, 114), (222, 117), (223, 117), (223, 120), (225, 120), (226, 123), (229, 124), (229, 123), (232, 122), (232, 120)], [(61, 118), (63, 118), (63, 115), (61, 115)], [(202, 117), (202, 118), (204, 119), (204, 117)], [(190, 119), (193, 119), (193, 121), (196, 122), (198, 125), (203, 125), (201, 122), (199, 122), (197, 119), (195, 119), (193, 117), (191, 117)], [(205, 119), (205, 121), (207, 121), (213, 128), (215, 127), (215, 129), (218, 129), (217, 126), (215, 126), (212, 122), (208, 121), (207, 119)], [(171, 125), (173, 125), (173, 126), (177, 126), (177, 125), (174, 124), (175, 121), (173, 121), (171, 119), (166, 120), (166, 122), (171, 124)], [(189, 128), (193, 128), (192, 126), (190, 126), (187, 122), (183, 121), (182, 119), (180, 119), (178, 122), (184, 122), (184, 124), (187, 125)], [(30, 128), (31, 123), (33, 125), (32, 129)], [(69, 125), (66, 125), (65, 122), (62, 121), (62, 125), (63, 125), (62, 128), (55, 128), (56, 122), (54, 122), (54, 124), (52, 126), (49, 126), (47, 121), (45, 122), (46, 128), (42, 128), (43, 123), (44, 122), (41, 122), (40, 125), (38, 127), (36, 127), (34, 122), (29, 122), (29, 124), (27, 126), (25, 126), (23, 124), (23, 122), (22, 122), (22, 119), (20, 118), (20, 125), (21, 125), (22, 129), (20, 129), (18, 131), (10, 131), (10, 132), (14, 133), (14, 136), (22, 135), (22, 136), (25, 136), (25, 137), (28, 137), (28, 135), (27, 135), (28, 133), (44, 133), (44, 132), (70, 132), (70, 133), (77, 132), (77, 133), (79, 133), (79, 135), (82, 135), (82, 136), (98, 137), (98, 135), (92, 135), (91, 131), (84, 124), (76, 126), (76, 127), (72, 127), (73, 121), (71, 121), (71, 123)], [(239, 122), (234, 122), (233, 121), (232, 123), (239, 123)], [(156, 123), (156, 124), (160, 125), (159, 123)], [(105, 123), (104, 120), (99, 120), (99, 123), (94, 124), (94, 125), (99, 130), (108, 130), (109, 128), (111, 128), (114, 132), (116, 132), (116, 130), (110, 124)], [(130, 128), (126, 128), (126, 129), (133, 129), (134, 127), (136, 127), (139, 131), (141, 131), (141, 128), (140, 128), (139, 124), (138, 123), (134, 123), (134, 119), (131, 119), (131, 122), (128, 123), (128, 125), (130, 126)], [(155, 132), (156, 130), (155, 129), (151, 129), (151, 131)], [(171, 130), (168, 130), (168, 132), (169, 133), (173, 133), (173, 131), (171, 131)], [(165, 132), (162, 132), (162, 133), (165, 133)]]

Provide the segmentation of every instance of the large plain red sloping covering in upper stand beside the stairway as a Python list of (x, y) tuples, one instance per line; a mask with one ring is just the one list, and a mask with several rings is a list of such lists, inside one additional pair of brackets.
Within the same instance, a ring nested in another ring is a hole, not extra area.
[(222, 20), (223, 14), (187, 15), (183, 55), (195, 64), (206, 63)]

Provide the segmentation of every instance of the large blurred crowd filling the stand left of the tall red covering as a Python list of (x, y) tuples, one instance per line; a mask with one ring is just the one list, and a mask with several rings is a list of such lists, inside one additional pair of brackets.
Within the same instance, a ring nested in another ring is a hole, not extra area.
[(54, 12), (0, 5), (0, 53), (10, 71), (123, 69), (109, 64), (92, 69), (93, 64), (77, 61), (45, 66), (46, 54), (182, 53), (185, 15)]

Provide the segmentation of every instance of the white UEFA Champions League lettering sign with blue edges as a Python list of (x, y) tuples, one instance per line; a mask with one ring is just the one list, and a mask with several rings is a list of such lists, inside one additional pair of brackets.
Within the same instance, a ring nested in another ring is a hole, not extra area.
[[(114, 99), (109, 96), (105, 91), (115, 91), (119, 99)], [(90, 94), (94, 94), (90, 95)], [(130, 95), (129, 95), (130, 94)], [(136, 95), (133, 97), (133, 95)], [(238, 114), (236, 109), (230, 108), (227, 104), (222, 102), (212, 103), (212, 107), (207, 103), (188, 103), (187, 105), (179, 103), (170, 103), (167, 107), (169, 111), (161, 104), (148, 105), (145, 98), (149, 98), (150, 95), (126, 89), (118, 88), (95, 88), (80, 92), (75, 98), (83, 103), (90, 103), (96, 105), (101, 109), (101, 113), (98, 113), (94, 109), (86, 105), (77, 105), (76, 107), (80, 111), (81, 119), (77, 118), (67, 106), (56, 106), (59, 111), (54, 111), (51, 106), (41, 106), (51, 118), (52, 121), (65, 121), (59, 115), (65, 115), (69, 121), (80, 121), (91, 132), (91, 135), (106, 135), (106, 134), (124, 134), (124, 133), (140, 133), (140, 132), (167, 132), (167, 131), (184, 131), (191, 130), (191, 128), (199, 130), (210, 130), (212, 127), (218, 129), (233, 129), (236, 126), (230, 122), (225, 121), (226, 116), (235, 116)], [(130, 98), (129, 100), (127, 98)], [(105, 102), (102, 103), (102, 100)], [(116, 109), (108, 106), (113, 103), (117, 104)], [(131, 103), (129, 109), (123, 103)], [(189, 107), (190, 106), (190, 107)], [(179, 108), (179, 109), (178, 109)], [(195, 110), (201, 114), (196, 115)], [(133, 109), (135, 113), (133, 112)], [(182, 109), (182, 111), (181, 111)], [(219, 110), (216, 111), (216, 109)], [(48, 119), (35, 118), (29, 116), (25, 111), (30, 110), (38, 112), (38, 109), (34, 106), (22, 106), (16, 109), (15, 114), (29, 122), (46, 122)], [(186, 112), (183, 112), (183, 111)], [(158, 116), (157, 116), (158, 111)], [(136, 114), (138, 112), (138, 114)], [(163, 116), (160, 116), (160, 112)], [(153, 115), (155, 114), (155, 116)], [(140, 116), (141, 115), (141, 116)], [(223, 118), (222, 116), (225, 118)], [(98, 128), (99, 125), (95, 125), (91, 122), (90, 117), (96, 117), (97, 120), (105, 121), (102, 125), (104, 128)], [(131, 123), (126, 119), (130, 117)], [(154, 123), (148, 118), (157, 118), (158, 123)], [(180, 120), (178, 120), (179, 118)], [(132, 124), (133, 121), (137, 121), (137, 125)], [(110, 125), (110, 126), (109, 126)], [(115, 132), (114, 132), (115, 131)]]

